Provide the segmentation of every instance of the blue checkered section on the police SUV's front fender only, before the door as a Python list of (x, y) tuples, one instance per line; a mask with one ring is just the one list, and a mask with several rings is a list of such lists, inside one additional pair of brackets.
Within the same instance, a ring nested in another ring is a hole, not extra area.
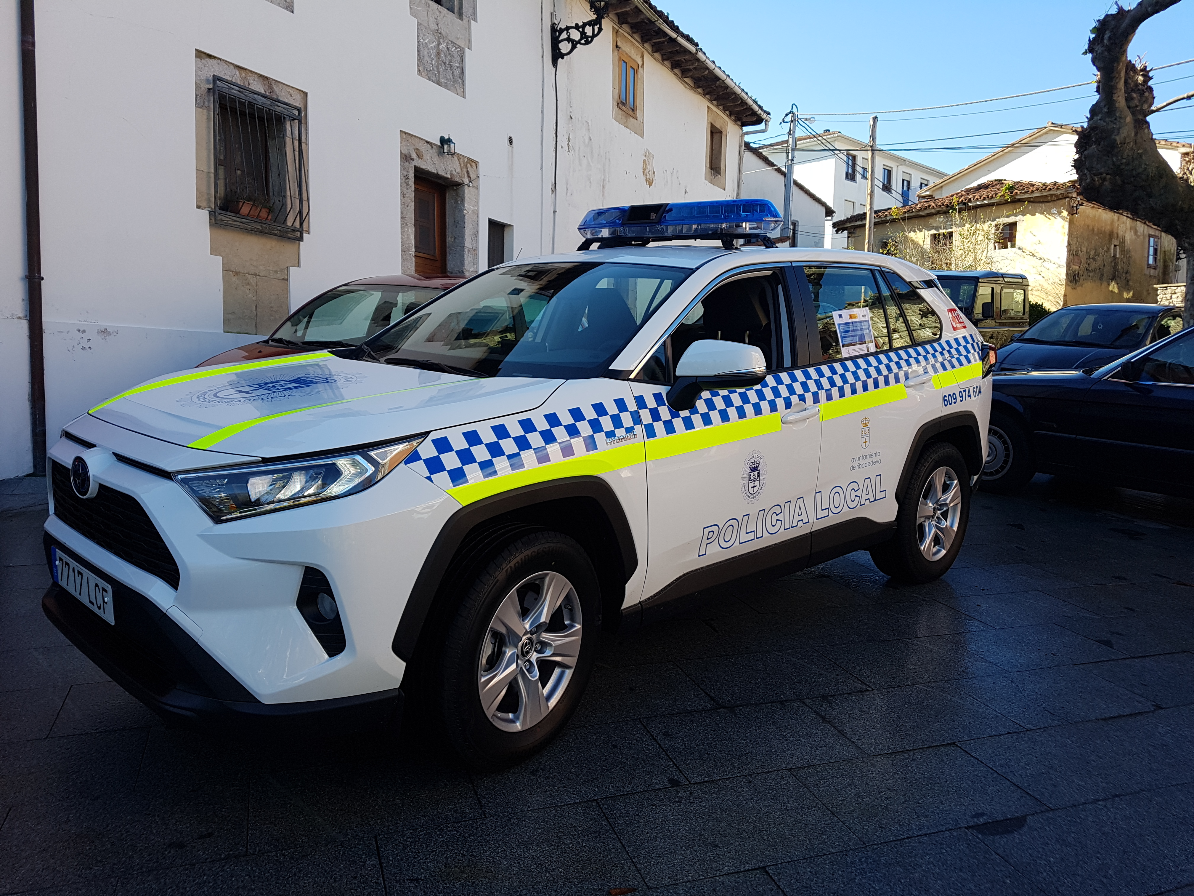
[(406, 465), (441, 489), (476, 483), (518, 470), (601, 450), (633, 437), (638, 412), (624, 398), (536, 413), (473, 429), (433, 435)]

